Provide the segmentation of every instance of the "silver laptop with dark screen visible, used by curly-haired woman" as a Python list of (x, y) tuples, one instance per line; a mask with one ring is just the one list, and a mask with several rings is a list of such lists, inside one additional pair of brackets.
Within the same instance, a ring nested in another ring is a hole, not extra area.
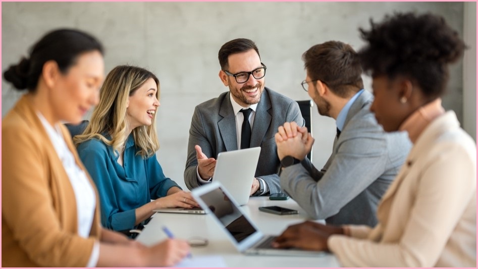
[(239, 252), (249, 255), (308, 256), (324, 255), (323, 251), (277, 249), (271, 243), (277, 236), (264, 236), (247, 217), (234, 197), (219, 182), (192, 191), (194, 199), (224, 230)]

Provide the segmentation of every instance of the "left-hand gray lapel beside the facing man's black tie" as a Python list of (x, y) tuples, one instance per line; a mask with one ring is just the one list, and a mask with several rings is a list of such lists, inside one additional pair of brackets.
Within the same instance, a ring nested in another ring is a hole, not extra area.
[(219, 116), (223, 118), (218, 121), (219, 132), (221, 133), (227, 151), (237, 149), (236, 115), (234, 115), (229, 94), (230, 93), (226, 94), (226, 97), (221, 103)]

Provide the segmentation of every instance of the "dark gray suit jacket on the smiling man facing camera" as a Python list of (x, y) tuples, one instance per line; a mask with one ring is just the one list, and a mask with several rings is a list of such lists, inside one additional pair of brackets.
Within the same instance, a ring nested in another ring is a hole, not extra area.
[[(214, 158), (217, 158), (220, 152), (237, 149), (236, 120), (229, 94), (229, 91), (224, 92), (217, 98), (197, 105), (194, 110), (184, 171), (184, 182), (190, 190), (199, 186), (196, 177), (195, 145), (201, 146), (207, 157)], [(292, 121), (300, 126), (304, 125), (297, 102), (264, 88), (252, 125), (250, 147), (261, 147), (255, 177), (265, 181), (270, 193), (281, 191), (277, 175), (280, 161), (274, 135), (284, 122)]]

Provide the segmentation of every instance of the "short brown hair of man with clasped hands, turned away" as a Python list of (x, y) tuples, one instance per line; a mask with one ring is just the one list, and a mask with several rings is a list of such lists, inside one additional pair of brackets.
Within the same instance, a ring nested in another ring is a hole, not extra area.
[(357, 52), (349, 44), (327, 41), (302, 55), (311, 80), (320, 80), (335, 94), (348, 97), (363, 88), (362, 67)]

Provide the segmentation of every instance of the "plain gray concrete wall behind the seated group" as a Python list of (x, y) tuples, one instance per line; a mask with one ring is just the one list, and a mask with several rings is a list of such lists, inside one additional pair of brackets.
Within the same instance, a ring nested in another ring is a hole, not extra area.
[[(309, 99), (302, 53), (327, 40), (358, 49), (358, 27), (395, 11), (432, 12), (462, 34), (463, 3), (2, 3), (2, 70), (16, 63), (46, 31), (74, 27), (98, 37), (106, 48), (106, 71), (132, 64), (161, 81), (158, 159), (181, 186), (194, 106), (228, 90), (218, 77), (220, 46), (237, 37), (254, 40), (267, 65), (266, 85), (293, 99)], [(476, 58), (474, 58), (476, 59)], [(476, 65), (476, 62), (474, 62)], [(451, 70), (446, 109), (462, 119), (463, 66)], [(370, 79), (365, 79), (370, 89)], [(474, 89), (473, 89), (474, 91)], [(2, 117), (18, 99), (2, 80)], [(322, 167), (332, 148), (335, 122), (313, 109), (313, 163)], [(473, 115), (474, 111), (473, 111)], [(474, 118), (476, 119), (476, 118)], [(475, 121), (475, 120), (474, 120)]]

